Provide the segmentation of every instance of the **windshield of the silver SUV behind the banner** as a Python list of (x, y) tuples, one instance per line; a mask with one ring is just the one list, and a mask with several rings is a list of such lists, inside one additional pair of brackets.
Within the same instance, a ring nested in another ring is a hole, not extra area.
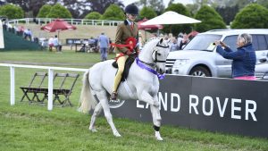
[(202, 34), (193, 38), (183, 50), (208, 50), (215, 40), (220, 40), (222, 35)]

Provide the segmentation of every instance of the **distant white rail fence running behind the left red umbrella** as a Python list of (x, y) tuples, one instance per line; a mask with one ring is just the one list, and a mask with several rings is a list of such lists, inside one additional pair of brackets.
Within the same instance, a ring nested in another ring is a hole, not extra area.
[[(48, 22), (54, 21), (54, 18), (24, 18), (24, 19), (15, 19), (8, 21), (11, 24), (19, 23), (37, 23), (39, 25), (46, 24)], [(85, 20), (85, 19), (63, 19), (72, 25), (98, 25), (98, 26), (117, 26), (122, 21), (107, 21), (107, 20)]]

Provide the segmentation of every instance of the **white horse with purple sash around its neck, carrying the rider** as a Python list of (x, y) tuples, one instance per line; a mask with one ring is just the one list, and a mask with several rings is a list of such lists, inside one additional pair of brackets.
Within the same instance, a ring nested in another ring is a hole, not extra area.
[[(169, 52), (169, 45), (163, 39), (149, 41), (130, 67), (129, 76), (124, 81), (127, 83), (127, 87), (125, 84), (120, 84), (118, 88), (118, 97), (120, 99), (139, 100), (150, 105), (157, 140), (163, 140), (159, 132), (161, 115), (157, 97), (158, 79), (165, 72), (165, 60)], [(89, 130), (96, 132), (96, 116), (104, 109), (105, 118), (113, 130), (113, 135), (121, 137), (113, 124), (112, 114), (108, 105), (110, 94), (113, 91), (113, 79), (117, 71), (112, 66), (113, 62), (113, 60), (108, 60), (96, 63), (84, 74), (80, 95), (80, 111), (88, 113), (95, 108)]]

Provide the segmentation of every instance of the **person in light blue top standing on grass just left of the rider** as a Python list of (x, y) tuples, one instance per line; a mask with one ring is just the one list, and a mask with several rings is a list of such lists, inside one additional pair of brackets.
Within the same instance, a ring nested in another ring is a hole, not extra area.
[(99, 43), (99, 48), (100, 48), (100, 53), (101, 53), (101, 61), (104, 62), (107, 60), (107, 49), (109, 46), (109, 39), (105, 36), (105, 33), (103, 32), (99, 37), (98, 37), (98, 43)]

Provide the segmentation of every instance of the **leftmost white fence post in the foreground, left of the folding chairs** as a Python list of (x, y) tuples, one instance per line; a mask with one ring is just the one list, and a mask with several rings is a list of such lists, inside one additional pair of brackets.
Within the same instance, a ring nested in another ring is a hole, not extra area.
[(15, 68), (10, 67), (10, 105), (15, 105)]

